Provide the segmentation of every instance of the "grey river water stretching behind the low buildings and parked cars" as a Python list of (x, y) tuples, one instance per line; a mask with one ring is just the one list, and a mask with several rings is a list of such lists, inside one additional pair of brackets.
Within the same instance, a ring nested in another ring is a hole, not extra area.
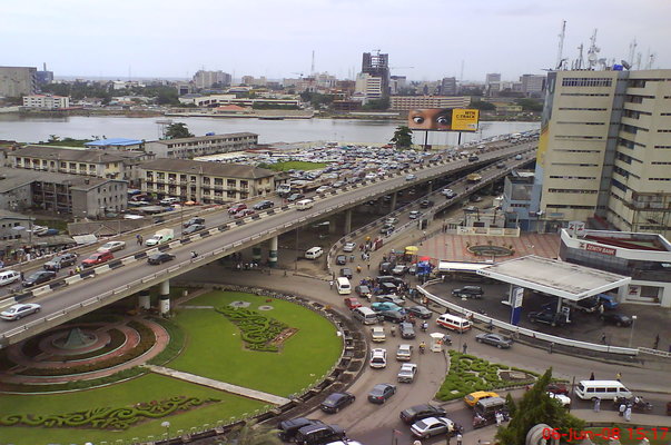
[[(255, 118), (170, 118), (184, 122), (196, 136), (207, 132), (226, 134), (250, 131), (259, 135), (259, 142), (339, 141), (385, 144), (394, 135), (398, 122), (359, 119), (295, 119), (258, 120)], [(96, 117), (43, 117), (23, 118), (0, 115), (0, 140), (39, 142), (50, 135), (61, 138), (129, 138), (155, 140), (160, 137), (161, 118), (127, 118), (117, 116)], [(481, 122), (476, 134), (463, 134), (462, 142), (490, 136), (520, 132), (540, 128), (539, 122)], [(424, 131), (415, 131), (415, 144), (424, 144)], [(456, 145), (457, 134), (432, 131), (428, 144)]]

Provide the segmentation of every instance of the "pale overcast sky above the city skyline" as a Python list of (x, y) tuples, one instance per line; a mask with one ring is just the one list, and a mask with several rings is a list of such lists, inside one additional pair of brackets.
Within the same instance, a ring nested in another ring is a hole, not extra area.
[[(671, 0), (1, 0), (0, 66), (56, 76), (190, 77), (198, 69), (267, 78), (315, 68), (345, 78), (364, 51), (393, 75), (504, 80), (578, 57), (596, 28), (601, 57), (626, 58), (635, 38), (671, 68)], [(586, 51), (585, 51), (586, 56)]]

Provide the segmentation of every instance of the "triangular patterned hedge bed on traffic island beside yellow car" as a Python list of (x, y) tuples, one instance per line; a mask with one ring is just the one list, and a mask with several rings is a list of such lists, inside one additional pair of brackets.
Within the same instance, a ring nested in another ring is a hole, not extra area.
[(491, 390), (511, 386), (525, 386), (534, 383), (533, 378), (526, 380), (503, 380), (499, 370), (519, 370), (529, 375), (539, 376), (525, 369), (511, 368), (510, 366), (490, 363), (470, 354), (450, 350), (450, 372), (441, 385), (436, 398), (443, 402), (462, 398), (476, 390)]

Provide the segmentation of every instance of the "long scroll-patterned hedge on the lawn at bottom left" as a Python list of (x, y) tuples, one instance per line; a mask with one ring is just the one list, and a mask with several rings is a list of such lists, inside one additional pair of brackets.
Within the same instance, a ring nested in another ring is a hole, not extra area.
[(10, 414), (0, 417), (2, 426), (40, 426), (49, 428), (128, 429), (140, 421), (166, 417), (178, 411), (220, 402), (217, 398), (176, 396), (165, 400), (138, 403), (134, 406), (98, 407), (68, 414)]

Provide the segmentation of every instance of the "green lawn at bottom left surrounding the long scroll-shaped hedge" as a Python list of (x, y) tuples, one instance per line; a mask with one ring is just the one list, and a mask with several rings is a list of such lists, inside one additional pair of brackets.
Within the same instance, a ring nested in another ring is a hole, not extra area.
[(170, 432), (188, 431), (193, 426), (216, 424), (217, 421), (229, 421), (245, 413), (262, 409), (264, 403), (238, 397), (216, 389), (193, 385), (158, 375), (148, 375), (134, 380), (112, 385), (106, 388), (80, 390), (67, 394), (19, 396), (3, 394), (0, 404), (0, 417), (11, 414), (62, 415), (95, 407), (132, 406), (140, 402), (161, 400), (172, 396), (199, 398), (217, 398), (221, 402), (195, 407), (189, 412), (178, 412), (167, 417), (136, 424), (126, 431), (100, 431), (91, 428), (48, 428), (29, 426), (2, 426), (0, 443), (13, 445), (41, 444), (99, 444), (107, 441), (114, 444), (118, 439), (138, 437), (144, 442), (147, 436), (160, 436), (165, 428), (160, 424), (170, 422)]

